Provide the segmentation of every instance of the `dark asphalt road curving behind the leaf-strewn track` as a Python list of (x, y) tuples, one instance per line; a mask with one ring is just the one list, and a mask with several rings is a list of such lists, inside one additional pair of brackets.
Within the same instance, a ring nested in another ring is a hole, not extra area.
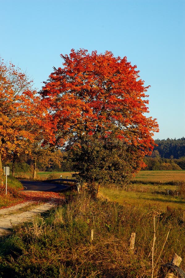
[(31, 180), (19, 180), (24, 186), (24, 190), (34, 190), (34, 191), (59, 191), (67, 190), (70, 188), (68, 185), (59, 184), (59, 183), (47, 183), (47, 182), (38, 182)]

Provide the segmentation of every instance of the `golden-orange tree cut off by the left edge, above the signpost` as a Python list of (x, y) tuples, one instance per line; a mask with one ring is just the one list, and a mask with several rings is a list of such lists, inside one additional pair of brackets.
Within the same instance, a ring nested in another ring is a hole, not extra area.
[[(27, 152), (43, 126), (49, 131), (44, 117), (44, 105), (40, 96), (32, 89), (32, 82), (19, 68), (0, 62), (0, 182), (2, 179), (2, 158)], [(46, 117), (47, 118), (47, 117)], [(46, 132), (47, 134), (47, 132)], [(44, 139), (43, 139), (44, 140)], [(14, 163), (13, 163), (14, 165)]]

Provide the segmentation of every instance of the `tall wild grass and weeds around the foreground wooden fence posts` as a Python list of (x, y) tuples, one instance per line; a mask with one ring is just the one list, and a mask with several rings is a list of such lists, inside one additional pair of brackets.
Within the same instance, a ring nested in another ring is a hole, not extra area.
[(182, 257), (180, 267), (185, 268), (184, 223), (182, 210), (158, 214), (152, 208), (146, 212), (142, 206), (93, 199), (86, 192), (66, 192), (63, 205), (1, 240), (0, 277), (149, 278), (155, 264), (153, 277), (163, 277), (164, 264), (174, 253)]

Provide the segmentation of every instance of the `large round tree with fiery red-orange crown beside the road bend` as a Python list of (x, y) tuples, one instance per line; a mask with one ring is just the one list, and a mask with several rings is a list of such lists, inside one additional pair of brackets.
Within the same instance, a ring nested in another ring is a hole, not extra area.
[[(95, 175), (100, 177), (95, 180), (99, 184), (102, 176), (108, 181), (108, 168), (111, 176), (118, 169), (121, 174), (122, 169), (121, 178), (126, 179), (143, 166), (145, 154), (153, 150), (153, 132), (158, 131), (156, 119), (145, 116), (149, 112), (145, 94), (149, 86), (145, 87), (139, 79), (136, 65), (132, 66), (126, 57), (114, 57), (109, 51), (90, 54), (84, 49), (72, 49), (69, 55), (61, 54), (61, 58), (63, 66), (54, 68), (40, 92), (53, 116), (56, 135), (63, 136), (68, 148), (74, 151), (71, 157), (77, 170), (82, 162), (78, 157), (86, 158), (86, 165), (78, 174), (86, 182), (92, 183)], [(117, 141), (109, 149), (104, 143), (107, 136)], [(86, 140), (95, 143), (96, 151), (92, 144), (83, 145)], [(96, 142), (102, 140), (102, 144)], [(91, 170), (95, 160), (90, 159), (93, 153), (98, 158), (94, 174)], [(117, 156), (116, 167), (108, 159), (111, 155), (113, 159)], [(134, 165), (129, 168), (132, 162)]]

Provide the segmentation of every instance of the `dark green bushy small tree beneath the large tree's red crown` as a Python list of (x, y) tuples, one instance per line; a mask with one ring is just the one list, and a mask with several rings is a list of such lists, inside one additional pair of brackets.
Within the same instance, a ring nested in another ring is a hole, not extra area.
[(74, 176), (81, 182), (85, 181), (88, 188), (96, 192), (96, 196), (100, 185), (107, 182), (121, 187), (128, 185), (132, 175), (140, 167), (138, 163), (141, 163), (134, 146), (116, 139), (113, 133), (109, 136), (83, 135), (81, 140), (71, 143), (68, 155), (73, 163), (73, 170), (78, 172)]

